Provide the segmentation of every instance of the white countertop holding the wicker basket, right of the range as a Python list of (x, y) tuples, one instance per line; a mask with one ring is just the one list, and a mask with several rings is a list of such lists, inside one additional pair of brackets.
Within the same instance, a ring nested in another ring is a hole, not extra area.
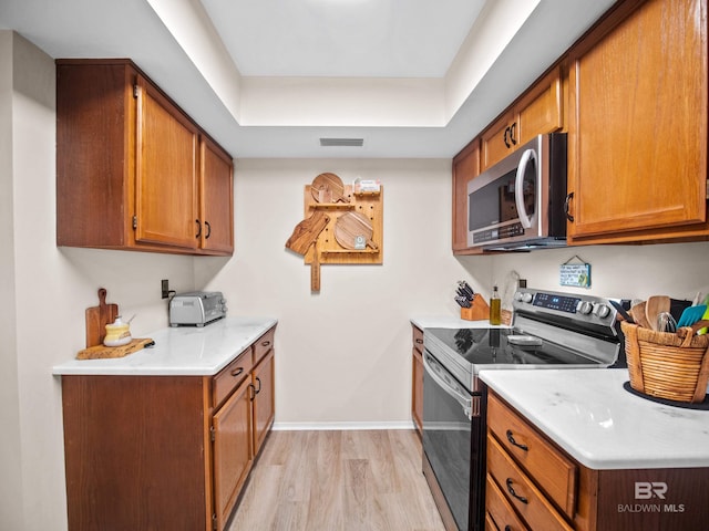
[(631, 394), (626, 368), (483, 369), (480, 378), (587, 468), (709, 467), (709, 410)]

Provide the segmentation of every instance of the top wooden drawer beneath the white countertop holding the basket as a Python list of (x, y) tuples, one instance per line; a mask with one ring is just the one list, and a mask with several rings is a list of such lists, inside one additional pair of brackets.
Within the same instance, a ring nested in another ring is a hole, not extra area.
[(573, 518), (576, 504), (576, 465), (493, 393), (487, 402), (487, 426), (552, 501)]

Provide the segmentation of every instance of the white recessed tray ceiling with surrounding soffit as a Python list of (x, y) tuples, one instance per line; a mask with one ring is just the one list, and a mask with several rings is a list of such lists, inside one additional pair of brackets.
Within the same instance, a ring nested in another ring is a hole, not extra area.
[(133, 59), (235, 157), (449, 158), (614, 1), (0, 0), (0, 29)]

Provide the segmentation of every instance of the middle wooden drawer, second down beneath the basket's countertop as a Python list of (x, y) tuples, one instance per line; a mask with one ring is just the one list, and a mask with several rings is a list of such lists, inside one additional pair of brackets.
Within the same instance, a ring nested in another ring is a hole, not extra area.
[(490, 436), (487, 437), (487, 472), (530, 529), (572, 530), (544, 493), (517, 467), (497, 440)]

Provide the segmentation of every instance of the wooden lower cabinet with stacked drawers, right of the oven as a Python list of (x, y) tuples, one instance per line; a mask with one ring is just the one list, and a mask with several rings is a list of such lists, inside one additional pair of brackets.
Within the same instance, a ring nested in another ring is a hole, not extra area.
[(487, 406), (487, 529), (707, 529), (709, 468), (593, 470), (493, 392)]

